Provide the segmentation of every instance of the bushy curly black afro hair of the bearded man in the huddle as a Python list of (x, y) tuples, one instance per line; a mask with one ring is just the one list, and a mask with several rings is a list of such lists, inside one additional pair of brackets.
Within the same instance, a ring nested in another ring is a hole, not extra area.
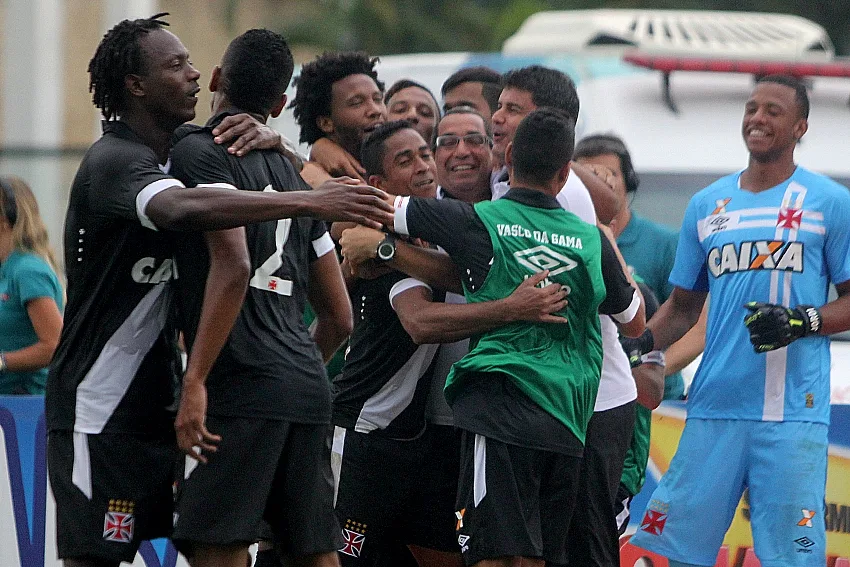
[(301, 128), (301, 143), (313, 144), (325, 136), (316, 119), (330, 115), (331, 87), (335, 82), (349, 75), (368, 75), (384, 92), (384, 83), (378, 80), (375, 71), (377, 62), (377, 57), (370, 57), (362, 51), (325, 52), (301, 68), (301, 74), (293, 82), (295, 98), (289, 105)]

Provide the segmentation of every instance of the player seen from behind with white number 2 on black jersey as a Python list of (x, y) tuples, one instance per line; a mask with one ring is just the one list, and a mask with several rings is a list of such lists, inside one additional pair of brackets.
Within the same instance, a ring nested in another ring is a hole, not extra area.
[[(235, 157), (212, 134), (225, 116), (249, 112), (265, 120), (280, 114), (292, 70), (280, 35), (250, 30), (234, 39), (210, 79), (213, 117), (175, 144), (175, 176), (197, 186), (297, 187), (297, 172), (277, 151)], [(303, 217), (234, 231), (250, 256), (251, 273), (245, 303), (206, 381), (207, 425), (222, 440), (178, 485), (172, 537), (193, 566), (241, 567), (266, 520), (285, 555), (304, 565), (338, 565), (327, 443), (330, 386), (322, 359), (330, 359), (352, 321), (334, 245), (323, 222)], [(181, 238), (177, 250), (191, 352), (203, 317), (204, 282), (207, 293), (217, 282), (207, 275), (200, 236)], [(308, 299), (317, 321), (312, 338), (303, 323)], [(193, 405), (187, 391), (202, 396), (204, 386), (184, 381), (177, 419), (184, 450), (192, 441), (180, 430), (184, 410)]]

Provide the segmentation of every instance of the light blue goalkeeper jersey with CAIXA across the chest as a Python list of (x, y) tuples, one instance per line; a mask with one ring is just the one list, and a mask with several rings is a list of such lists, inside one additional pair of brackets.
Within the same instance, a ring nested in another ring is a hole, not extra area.
[(829, 423), (829, 339), (810, 336), (756, 354), (744, 303), (820, 307), (850, 280), (850, 191), (798, 167), (760, 193), (737, 174), (688, 204), (670, 282), (711, 293), (702, 363), (688, 416)]

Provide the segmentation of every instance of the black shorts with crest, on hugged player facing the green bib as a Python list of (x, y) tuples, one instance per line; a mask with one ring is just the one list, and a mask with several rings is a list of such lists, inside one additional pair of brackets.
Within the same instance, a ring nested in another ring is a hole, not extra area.
[[(400, 441), (336, 429), (336, 511), (345, 540), (340, 548), (344, 566), (376, 565), (388, 549), (399, 544), (457, 552), (457, 476), (446, 493), (445, 475), (431, 475), (439, 463), (426, 466), (430, 457), (442, 458), (435, 452), (439, 452), (438, 444), (444, 439), (423, 434)], [(455, 450), (452, 445), (443, 447), (448, 467)]]

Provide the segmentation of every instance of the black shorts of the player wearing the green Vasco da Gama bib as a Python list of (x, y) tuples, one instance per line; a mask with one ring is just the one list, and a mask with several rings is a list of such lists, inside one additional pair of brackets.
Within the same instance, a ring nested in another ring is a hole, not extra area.
[(581, 457), (464, 431), (456, 503), (466, 565), (498, 557), (566, 562)]

